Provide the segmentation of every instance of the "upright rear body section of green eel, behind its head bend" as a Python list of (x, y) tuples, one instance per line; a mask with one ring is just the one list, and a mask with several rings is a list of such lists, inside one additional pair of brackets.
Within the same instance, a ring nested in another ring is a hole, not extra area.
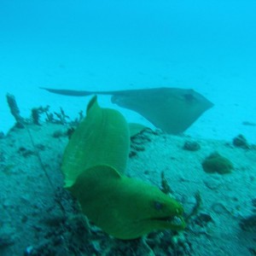
[(125, 171), (130, 148), (130, 133), (123, 115), (110, 108), (100, 108), (96, 96), (87, 107), (65, 149), (61, 170), (65, 187), (70, 187), (80, 173), (91, 166), (113, 166)]

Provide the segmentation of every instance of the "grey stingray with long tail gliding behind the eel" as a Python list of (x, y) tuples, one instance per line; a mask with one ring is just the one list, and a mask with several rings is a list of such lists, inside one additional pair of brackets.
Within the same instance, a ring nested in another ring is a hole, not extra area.
[(170, 134), (186, 131), (212, 102), (195, 90), (180, 88), (152, 88), (141, 90), (55, 90), (42, 88), (65, 96), (111, 95), (119, 107), (131, 109), (148, 119), (155, 127)]

